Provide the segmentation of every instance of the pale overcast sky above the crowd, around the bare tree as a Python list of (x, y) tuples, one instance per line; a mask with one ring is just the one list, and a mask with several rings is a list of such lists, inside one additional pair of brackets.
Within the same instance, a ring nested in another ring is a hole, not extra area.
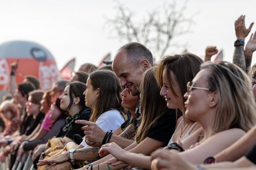
[[(168, 1), (120, 2), (140, 18), (156, 7), (161, 9), (163, 2)], [(111, 38), (109, 29), (104, 27), (106, 17), (115, 16), (115, 5), (113, 0), (0, 0), (0, 43), (10, 40), (40, 43), (53, 54), (59, 69), (74, 56), (75, 70), (84, 62), (98, 65), (103, 55), (111, 52), (113, 56), (125, 43)], [(206, 46), (217, 46), (224, 49), (224, 60), (231, 61), (236, 39), (234, 21), (244, 14), (248, 27), (256, 21), (255, 7), (255, 0), (190, 0), (185, 14), (199, 13), (193, 18), (191, 33), (176, 40), (187, 44), (188, 51), (199, 56), (204, 56)], [(255, 30), (256, 24), (252, 28)], [(171, 50), (169, 54), (180, 52)], [(255, 61), (254, 56), (252, 63)]]

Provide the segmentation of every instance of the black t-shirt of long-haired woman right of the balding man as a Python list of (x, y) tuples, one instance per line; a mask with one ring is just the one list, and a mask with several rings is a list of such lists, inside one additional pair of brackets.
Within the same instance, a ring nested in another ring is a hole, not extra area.
[(167, 145), (175, 131), (176, 119), (176, 110), (167, 109), (166, 113), (159, 118), (156, 125), (149, 130), (147, 137), (154, 138)]

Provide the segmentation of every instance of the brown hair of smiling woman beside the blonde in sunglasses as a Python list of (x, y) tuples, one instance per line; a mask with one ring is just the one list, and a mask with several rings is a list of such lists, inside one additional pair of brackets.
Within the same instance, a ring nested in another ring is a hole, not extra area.
[[(173, 56), (165, 56), (160, 64), (157, 66), (156, 78), (157, 83), (160, 87), (163, 86), (163, 70), (166, 68), (168, 79), (170, 79), (170, 71), (175, 75), (176, 80), (178, 81), (180, 91), (182, 96), (187, 92), (187, 83), (192, 81), (196, 74), (200, 71), (200, 65), (203, 63), (203, 60), (199, 56), (192, 53), (183, 53), (181, 55), (176, 54)], [(170, 89), (176, 95), (171, 82), (168, 82)], [(185, 99), (183, 98), (184, 102)]]

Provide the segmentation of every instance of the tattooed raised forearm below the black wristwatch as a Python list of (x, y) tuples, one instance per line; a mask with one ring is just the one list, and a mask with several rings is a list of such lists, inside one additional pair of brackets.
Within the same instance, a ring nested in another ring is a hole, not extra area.
[(245, 71), (246, 66), (245, 66), (245, 54), (244, 54), (243, 46), (235, 47), (233, 64), (236, 64), (243, 71)]

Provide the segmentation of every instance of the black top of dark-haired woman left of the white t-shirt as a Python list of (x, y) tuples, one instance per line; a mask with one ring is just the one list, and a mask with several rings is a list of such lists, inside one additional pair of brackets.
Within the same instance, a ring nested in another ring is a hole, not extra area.
[(81, 129), (83, 127), (82, 124), (75, 123), (76, 120), (86, 120), (88, 121), (91, 115), (91, 111), (89, 108), (82, 110), (78, 112), (73, 118), (68, 116), (66, 118), (65, 125), (62, 129), (60, 129), (59, 133), (56, 137), (68, 137), (73, 139), (73, 135), (79, 134), (80, 136), (84, 136), (83, 130)]

